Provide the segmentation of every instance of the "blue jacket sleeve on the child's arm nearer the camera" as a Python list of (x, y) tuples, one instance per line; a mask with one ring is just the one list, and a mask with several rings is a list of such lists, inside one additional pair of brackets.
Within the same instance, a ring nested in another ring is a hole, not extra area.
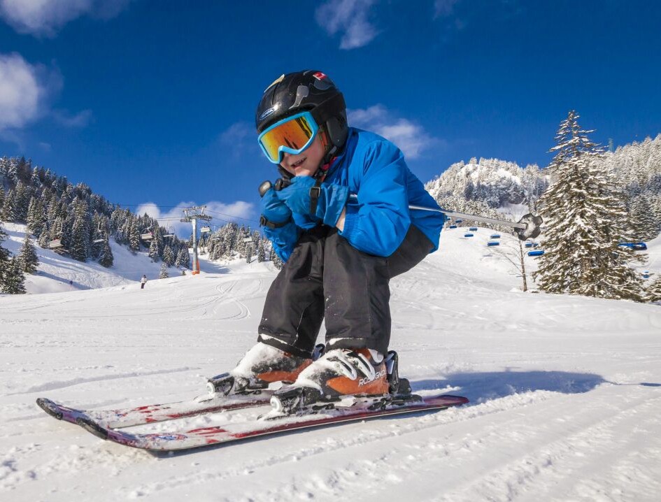
[(362, 162), (358, 199), (357, 203), (350, 199), (346, 206), (340, 235), (357, 250), (390, 256), (404, 241), (411, 224), (404, 155), (390, 141), (374, 141), (356, 161)]

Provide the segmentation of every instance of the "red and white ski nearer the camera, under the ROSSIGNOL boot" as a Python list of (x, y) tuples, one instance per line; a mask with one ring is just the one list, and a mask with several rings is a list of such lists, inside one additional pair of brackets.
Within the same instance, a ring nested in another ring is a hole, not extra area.
[[(413, 399), (412, 399), (413, 398)], [(312, 429), (346, 422), (388, 417), (390, 415), (405, 415), (432, 410), (443, 410), (450, 406), (460, 406), (468, 399), (462, 396), (424, 397), (409, 395), (406, 399), (378, 403), (374, 401), (357, 403), (349, 408), (321, 407), (314, 413), (305, 415), (275, 415), (268, 414), (260, 419), (250, 420), (226, 426), (210, 426), (187, 431), (170, 431), (164, 433), (132, 433), (126, 430), (114, 430), (94, 421), (92, 417), (80, 415), (76, 423), (90, 433), (104, 440), (120, 445), (126, 445), (152, 452), (170, 452), (177, 450), (192, 450), (234, 443), (239, 440), (269, 436), (288, 431)]]

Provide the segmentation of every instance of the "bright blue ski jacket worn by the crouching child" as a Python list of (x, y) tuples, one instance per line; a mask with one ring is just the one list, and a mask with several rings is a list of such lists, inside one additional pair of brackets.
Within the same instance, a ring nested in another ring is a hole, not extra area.
[[(348, 199), (340, 232), (357, 250), (388, 257), (404, 241), (410, 224), (432, 241), (432, 252), (438, 249), (445, 217), (408, 209), (409, 205), (439, 206), (408, 169), (401, 150), (387, 139), (351, 127), (346, 146), (332, 162), (324, 182), (348, 187), (350, 194), (357, 195), (357, 199)], [(313, 215), (294, 213), (290, 225), (264, 228), (264, 234), (273, 241), (278, 256), (287, 261), (301, 232), (319, 222)]]

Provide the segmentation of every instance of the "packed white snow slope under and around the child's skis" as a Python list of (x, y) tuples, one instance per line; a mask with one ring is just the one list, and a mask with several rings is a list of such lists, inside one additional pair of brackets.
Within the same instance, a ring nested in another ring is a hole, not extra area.
[(0, 297), (0, 500), (658, 501), (661, 306), (519, 292), (499, 255), (518, 248), (505, 234), (487, 248), (488, 234), (443, 231), (439, 252), (391, 283), (401, 374), (469, 405), (189, 454), (106, 443), (34, 401), (203, 393), (254, 343), (269, 264)]

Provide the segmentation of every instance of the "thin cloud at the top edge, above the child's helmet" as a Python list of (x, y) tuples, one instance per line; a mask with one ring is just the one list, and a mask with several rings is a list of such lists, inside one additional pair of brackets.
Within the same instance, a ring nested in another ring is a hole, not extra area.
[(369, 22), (369, 10), (375, 0), (329, 0), (315, 11), (315, 20), (329, 35), (342, 33), (341, 49), (367, 45), (378, 31)]

